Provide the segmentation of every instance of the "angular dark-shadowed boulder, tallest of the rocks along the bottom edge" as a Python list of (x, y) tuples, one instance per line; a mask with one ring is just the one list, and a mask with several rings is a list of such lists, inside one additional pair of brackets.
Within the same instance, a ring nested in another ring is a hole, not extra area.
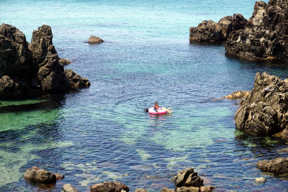
[(193, 168), (182, 169), (176, 175), (175, 189), (179, 187), (201, 187), (203, 179), (201, 179)]

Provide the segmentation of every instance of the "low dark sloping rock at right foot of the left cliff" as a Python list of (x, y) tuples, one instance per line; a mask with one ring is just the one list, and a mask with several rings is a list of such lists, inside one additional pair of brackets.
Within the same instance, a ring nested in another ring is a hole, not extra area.
[(78, 87), (86, 87), (90, 86), (90, 82), (87, 78), (83, 78), (71, 69), (65, 69), (64, 75), (68, 78), (70, 82), (70, 86), (72, 88), (78, 88)]

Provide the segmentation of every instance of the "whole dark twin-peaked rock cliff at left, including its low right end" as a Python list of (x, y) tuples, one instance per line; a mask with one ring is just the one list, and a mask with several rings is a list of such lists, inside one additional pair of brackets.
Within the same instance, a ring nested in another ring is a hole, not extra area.
[(29, 44), (16, 27), (0, 25), (1, 98), (65, 92), (72, 87), (90, 85), (88, 79), (75, 72), (74, 76), (66, 76), (68, 73), (64, 73), (64, 67), (59, 63), (52, 37), (51, 27), (42, 25), (33, 31)]

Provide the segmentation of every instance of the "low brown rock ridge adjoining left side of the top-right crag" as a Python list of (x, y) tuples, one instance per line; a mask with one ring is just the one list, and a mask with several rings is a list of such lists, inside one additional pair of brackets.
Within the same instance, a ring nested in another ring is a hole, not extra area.
[(190, 40), (192, 41), (220, 41), (226, 40), (230, 32), (244, 29), (247, 19), (241, 14), (226, 16), (220, 21), (202, 21), (197, 27), (190, 28)]

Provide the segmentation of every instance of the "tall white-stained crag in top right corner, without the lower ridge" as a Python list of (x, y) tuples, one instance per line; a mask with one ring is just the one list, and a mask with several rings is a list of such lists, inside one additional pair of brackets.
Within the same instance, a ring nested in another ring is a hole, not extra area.
[(287, 2), (256, 1), (245, 29), (230, 33), (226, 52), (249, 60), (288, 58)]

